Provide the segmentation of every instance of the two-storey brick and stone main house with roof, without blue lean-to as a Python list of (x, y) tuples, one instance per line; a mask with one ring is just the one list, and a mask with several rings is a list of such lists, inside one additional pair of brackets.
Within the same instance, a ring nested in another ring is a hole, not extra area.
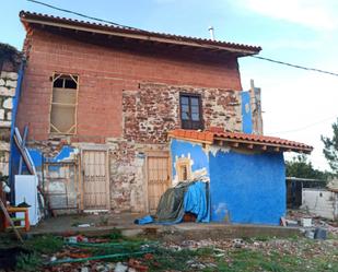
[(30, 128), (56, 210), (153, 211), (171, 186), (170, 130), (263, 133), (259, 90), (242, 91), (237, 62), (260, 47), (20, 19), (27, 61), (16, 126)]

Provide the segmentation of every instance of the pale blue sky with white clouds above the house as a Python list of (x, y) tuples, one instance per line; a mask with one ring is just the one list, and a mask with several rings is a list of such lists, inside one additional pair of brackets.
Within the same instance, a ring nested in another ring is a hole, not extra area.
[[(261, 57), (338, 73), (337, 0), (40, 0), (123, 25), (261, 46)], [(27, 0), (2, 0), (0, 42), (22, 49), (20, 10), (83, 20)], [(310, 161), (329, 169), (320, 135), (338, 118), (338, 76), (240, 59), (243, 90), (261, 88), (264, 133), (314, 146)], [(295, 154), (287, 154), (290, 159)]]

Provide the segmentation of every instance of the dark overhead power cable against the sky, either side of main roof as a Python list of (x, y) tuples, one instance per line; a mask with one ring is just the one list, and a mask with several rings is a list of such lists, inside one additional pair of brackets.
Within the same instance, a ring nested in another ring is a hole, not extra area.
[[(144, 29), (140, 29), (140, 28), (137, 28), (137, 27), (131, 27), (131, 26), (118, 24), (118, 23), (115, 23), (115, 22), (112, 22), (112, 21), (107, 21), (107, 20), (103, 20), (103, 19), (85, 15), (85, 14), (80, 13), (80, 12), (75, 12), (75, 11), (58, 8), (56, 5), (44, 3), (44, 2), (40, 2), (40, 1), (37, 1), (37, 0), (27, 0), (27, 1), (28, 2), (33, 2), (33, 3), (37, 3), (37, 4), (42, 4), (42, 5), (48, 7), (48, 8), (54, 9), (54, 10), (58, 10), (58, 11), (62, 11), (62, 12), (66, 12), (66, 13), (74, 14), (74, 15), (78, 15), (78, 16), (81, 16), (81, 17), (94, 20), (94, 21), (97, 21), (97, 22), (102, 22), (102, 23), (106, 23), (106, 24), (112, 24), (112, 25), (119, 26), (119, 27), (125, 27), (125, 28), (128, 28), (128, 29), (147, 32)], [(280, 61), (280, 60), (275, 60), (275, 59), (270, 59), (270, 58), (265, 58), (265, 57), (259, 57), (259, 56), (249, 56), (249, 57), (253, 57), (253, 58), (256, 58), (256, 59), (260, 59), (260, 60), (270, 61), (270, 62), (273, 62), (273, 63), (277, 63), (277, 64), (282, 64), (282, 66), (293, 67), (293, 68), (298, 68), (298, 69), (302, 69), (302, 70), (314, 71), (314, 72), (319, 72), (319, 73), (325, 73), (325, 74), (330, 74), (330, 75), (338, 76), (338, 73), (329, 72), (329, 71), (325, 71), (325, 70), (320, 70), (320, 69), (316, 69), (316, 68), (308, 68), (308, 67), (303, 67), (303, 66), (299, 66), (299, 64), (292, 64), (292, 63), (289, 63), (289, 62), (284, 62), (284, 61)]]

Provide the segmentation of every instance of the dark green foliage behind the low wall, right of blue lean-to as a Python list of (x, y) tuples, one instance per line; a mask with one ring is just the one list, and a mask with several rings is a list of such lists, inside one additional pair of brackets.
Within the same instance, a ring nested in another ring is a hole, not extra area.
[(306, 155), (298, 155), (285, 162), (287, 177), (327, 180), (329, 173), (315, 169)]

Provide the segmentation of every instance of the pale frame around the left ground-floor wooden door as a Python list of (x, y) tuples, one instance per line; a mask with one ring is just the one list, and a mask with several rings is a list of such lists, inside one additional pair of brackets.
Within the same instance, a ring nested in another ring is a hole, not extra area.
[(95, 152), (95, 151), (102, 151), (105, 152), (106, 158), (105, 158), (105, 174), (106, 174), (106, 210), (110, 211), (112, 204), (110, 204), (110, 178), (109, 178), (109, 149), (105, 144), (81, 144), (80, 146), (80, 168), (81, 168), (81, 182), (80, 182), (80, 203), (81, 203), (81, 211), (84, 211), (84, 165), (83, 165), (83, 153), (84, 152)]

